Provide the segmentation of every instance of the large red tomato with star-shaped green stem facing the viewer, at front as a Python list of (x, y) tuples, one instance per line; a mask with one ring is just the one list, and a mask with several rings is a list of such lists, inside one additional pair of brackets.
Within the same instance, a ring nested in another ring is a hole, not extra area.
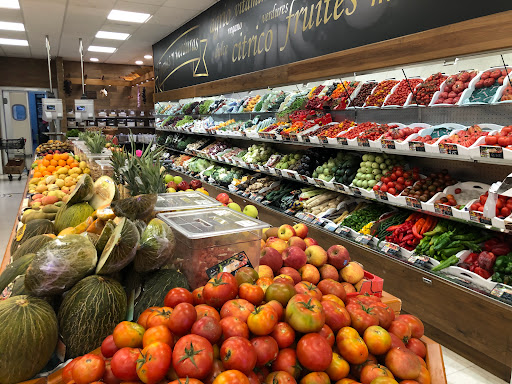
[(213, 347), (202, 336), (187, 335), (178, 340), (172, 352), (172, 366), (179, 377), (204, 379), (213, 365)]

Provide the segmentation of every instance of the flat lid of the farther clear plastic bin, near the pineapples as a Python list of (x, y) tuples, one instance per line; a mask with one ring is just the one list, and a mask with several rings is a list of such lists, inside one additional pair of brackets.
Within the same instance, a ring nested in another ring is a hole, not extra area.
[(159, 193), (154, 210), (156, 212), (169, 212), (222, 206), (221, 202), (201, 192), (175, 192)]

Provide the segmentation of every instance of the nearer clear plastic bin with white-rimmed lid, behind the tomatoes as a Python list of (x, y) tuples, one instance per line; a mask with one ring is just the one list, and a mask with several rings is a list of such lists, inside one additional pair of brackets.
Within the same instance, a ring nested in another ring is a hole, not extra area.
[(245, 252), (253, 267), (259, 265), (262, 229), (267, 223), (229, 208), (159, 213), (176, 236), (173, 265), (195, 289), (206, 284), (206, 270)]

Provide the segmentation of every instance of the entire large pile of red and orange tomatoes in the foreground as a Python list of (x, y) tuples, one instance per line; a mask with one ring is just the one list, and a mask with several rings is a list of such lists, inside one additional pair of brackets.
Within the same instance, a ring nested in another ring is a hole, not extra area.
[(63, 383), (430, 382), (418, 318), (395, 317), (379, 297), (347, 294), (334, 279), (315, 285), (295, 269), (275, 278), (269, 269), (170, 290), (163, 307), (119, 323), (100, 355), (72, 360)]

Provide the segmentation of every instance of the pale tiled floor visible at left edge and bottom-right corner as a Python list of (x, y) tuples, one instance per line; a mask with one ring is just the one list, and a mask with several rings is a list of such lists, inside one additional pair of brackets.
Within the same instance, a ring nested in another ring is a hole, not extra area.
[[(9, 181), (7, 176), (0, 175), (0, 256), (9, 242), (26, 183), (26, 176), (21, 181)], [(443, 358), (448, 384), (508, 384), (445, 347)]]

